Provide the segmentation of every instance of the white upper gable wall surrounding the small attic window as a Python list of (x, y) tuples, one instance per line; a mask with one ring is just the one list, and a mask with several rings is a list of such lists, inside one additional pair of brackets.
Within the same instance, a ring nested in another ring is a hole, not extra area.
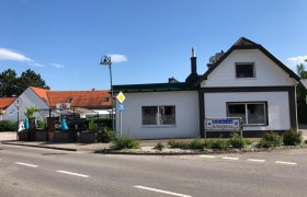
[[(255, 78), (236, 78), (237, 62), (253, 62)], [(275, 86), (292, 85), (292, 80), (284, 70), (275, 65), (259, 49), (234, 50), (207, 80), (201, 83), (205, 86)]]

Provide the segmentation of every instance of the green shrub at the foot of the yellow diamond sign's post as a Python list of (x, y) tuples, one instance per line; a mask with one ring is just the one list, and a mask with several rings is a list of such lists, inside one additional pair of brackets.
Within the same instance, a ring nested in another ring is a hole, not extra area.
[(140, 142), (137, 138), (124, 136), (123, 138), (116, 138), (111, 146), (112, 149), (139, 149)]

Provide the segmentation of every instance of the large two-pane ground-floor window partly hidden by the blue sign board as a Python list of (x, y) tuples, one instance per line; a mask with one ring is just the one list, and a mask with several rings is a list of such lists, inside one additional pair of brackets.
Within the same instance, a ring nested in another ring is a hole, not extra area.
[(227, 103), (228, 117), (241, 117), (247, 126), (268, 125), (268, 103)]

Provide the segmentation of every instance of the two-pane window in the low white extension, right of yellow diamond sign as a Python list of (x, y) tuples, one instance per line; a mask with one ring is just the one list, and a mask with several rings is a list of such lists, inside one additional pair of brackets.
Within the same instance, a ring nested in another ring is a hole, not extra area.
[(143, 125), (175, 125), (175, 106), (143, 106)]

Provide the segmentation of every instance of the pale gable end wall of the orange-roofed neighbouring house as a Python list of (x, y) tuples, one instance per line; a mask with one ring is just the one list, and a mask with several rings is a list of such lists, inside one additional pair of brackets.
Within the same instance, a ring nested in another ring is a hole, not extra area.
[[(23, 120), (25, 118), (25, 111), (26, 107), (33, 107), (33, 106), (37, 106), (39, 109), (47, 109), (48, 106), (45, 102), (43, 102), (33, 91), (31, 88), (27, 88), (20, 96), (22, 100), (22, 105), (19, 109), (19, 118), (20, 120)], [(14, 115), (10, 115), (10, 111), (14, 109), (15, 113)], [(5, 120), (11, 120), (11, 121), (16, 121), (18, 120), (18, 108), (14, 105), (14, 103), (12, 103), (5, 111), (5, 114), (3, 115), (3, 119)], [(46, 112), (47, 113), (47, 112)], [(48, 113), (47, 113), (48, 114)], [(39, 113), (35, 113), (34, 114), (35, 117), (41, 117)]]

